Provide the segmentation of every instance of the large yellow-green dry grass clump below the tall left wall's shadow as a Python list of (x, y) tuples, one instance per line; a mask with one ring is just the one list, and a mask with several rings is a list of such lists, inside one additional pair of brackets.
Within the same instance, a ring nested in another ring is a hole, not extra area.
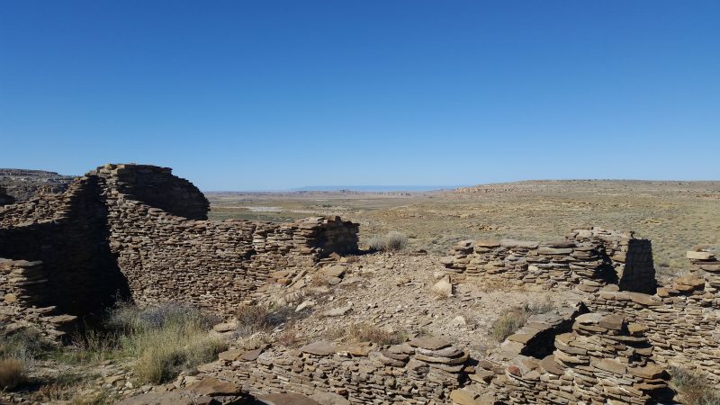
[(108, 325), (119, 331), (121, 351), (137, 358), (133, 371), (139, 382), (165, 383), (227, 349), (223, 340), (208, 334), (217, 321), (176, 303), (144, 310), (122, 304), (112, 312)]

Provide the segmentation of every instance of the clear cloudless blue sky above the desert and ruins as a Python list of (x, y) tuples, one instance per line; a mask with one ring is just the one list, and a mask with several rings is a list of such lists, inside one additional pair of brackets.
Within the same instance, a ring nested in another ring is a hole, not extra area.
[(0, 167), (720, 179), (720, 2), (0, 3)]

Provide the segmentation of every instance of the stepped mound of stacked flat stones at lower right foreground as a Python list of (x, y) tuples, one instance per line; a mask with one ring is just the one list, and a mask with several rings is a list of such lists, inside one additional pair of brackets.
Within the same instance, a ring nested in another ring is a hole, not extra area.
[[(553, 355), (517, 356), (507, 366), (481, 362), (465, 397), (484, 403), (650, 404), (670, 400), (669, 374), (653, 362), (644, 327), (616, 314), (579, 316), (555, 338)], [(466, 402), (467, 403), (467, 402)]]

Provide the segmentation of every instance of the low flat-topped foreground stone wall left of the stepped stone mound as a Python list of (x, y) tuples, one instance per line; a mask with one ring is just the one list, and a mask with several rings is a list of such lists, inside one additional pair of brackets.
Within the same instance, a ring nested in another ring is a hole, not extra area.
[(207, 370), (259, 392), (335, 392), (353, 403), (447, 403), (466, 381), (467, 353), (439, 338), (402, 345), (316, 342), (300, 350), (230, 350)]

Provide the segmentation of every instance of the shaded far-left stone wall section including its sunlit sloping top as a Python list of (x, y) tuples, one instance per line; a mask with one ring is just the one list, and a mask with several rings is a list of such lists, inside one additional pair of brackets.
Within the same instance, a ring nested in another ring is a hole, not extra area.
[[(6, 207), (0, 212), (0, 257), (41, 261), (49, 288), (35, 295), (40, 305), (63, 313), (102, 316), (127, 283), (108, 245), (107, 207), (102, 183), (84, 177), (62, 196)], [(8, 222), (13, 222), (10, 226)]]

